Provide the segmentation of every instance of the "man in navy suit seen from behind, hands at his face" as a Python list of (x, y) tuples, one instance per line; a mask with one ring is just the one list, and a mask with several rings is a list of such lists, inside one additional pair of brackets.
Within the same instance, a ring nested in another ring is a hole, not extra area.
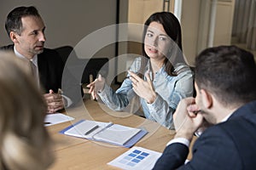
[[(253, 54), (235, 46), (207, 48), (195, 59), (196, 97), (174, 114), (176, 135), (154, 169), (256, 169), (256, 66)], [(211, 127), (193, 146), (203, 122)]]

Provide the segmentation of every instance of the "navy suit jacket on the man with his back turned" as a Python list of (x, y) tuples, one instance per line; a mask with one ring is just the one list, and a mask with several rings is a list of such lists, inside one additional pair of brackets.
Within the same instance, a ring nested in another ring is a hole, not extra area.
[(170, 144), (154, 169), (256, 169), (256, 101), (202, 133), (195, 141), (192, 160), (183, 165), (188, 153), (185, 145)]

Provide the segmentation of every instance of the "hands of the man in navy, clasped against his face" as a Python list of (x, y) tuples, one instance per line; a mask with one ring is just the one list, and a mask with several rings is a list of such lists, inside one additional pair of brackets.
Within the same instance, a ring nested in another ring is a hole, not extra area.
[[(198, 112), (199, 111), (199, 112)], [(173, 115), (173, 122), (176, 129), (175, 138), (191, 140), (195, 131), (201, 127), (203, 116), (194, 98), (182, 99), (177, 105)]]

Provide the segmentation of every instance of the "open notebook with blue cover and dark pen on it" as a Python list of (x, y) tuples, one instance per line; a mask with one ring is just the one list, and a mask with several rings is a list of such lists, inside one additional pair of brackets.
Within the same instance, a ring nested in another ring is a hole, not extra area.
[(61, 130), (60, 133), (129, 148), (148, 132), (140, 128), (125, 127), (112, 122), (81, 120)]

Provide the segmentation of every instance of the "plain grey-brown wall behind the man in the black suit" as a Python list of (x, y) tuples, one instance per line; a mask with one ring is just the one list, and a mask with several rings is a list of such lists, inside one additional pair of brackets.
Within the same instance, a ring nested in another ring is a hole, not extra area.
[[(4, 22), (7, 14), (15, 7), (36, 6), (46, 26), (45, 47), (56, 48), (62, 45), (75, 47), (93, 31), (115, 24), (116, 2), (116, 0), (0, 0), (0, 46), (12, 43), (5, 31)], [(85, 50), (86, 48), (88, 47), (84, 47)], [(93, 56), (111, 59), (115, 56), (115, 45), (102, 47)], [(109, 68), (108, 75), (113, 76), (116, 66), (110, 64)]]

